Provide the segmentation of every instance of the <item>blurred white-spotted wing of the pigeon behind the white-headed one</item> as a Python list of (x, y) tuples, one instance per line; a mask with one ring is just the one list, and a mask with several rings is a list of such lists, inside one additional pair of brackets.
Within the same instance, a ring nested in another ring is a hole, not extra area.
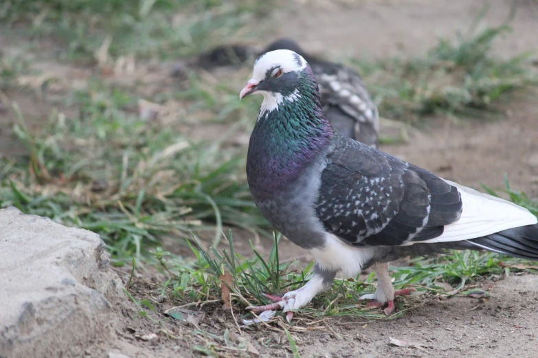
[(359, 73), (339, 64), (314, 62), (326, 118), (345, 136), (377, 147), (379, 115)]

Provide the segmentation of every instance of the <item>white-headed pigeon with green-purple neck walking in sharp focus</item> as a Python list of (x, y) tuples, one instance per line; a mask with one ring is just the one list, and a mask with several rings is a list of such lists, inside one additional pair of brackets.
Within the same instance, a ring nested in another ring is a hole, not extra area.
[(537, 217), (526, 208), (444, 180), (339, 133), (324, 116), (316, 77), (298, 53), (259, 56), (240, 99), (263, 96), (249, 140), (247, 180), (256, 206), (314, 260), (306, 285), (254, 312), (287, 319), (328, 289), (336, 274), (372, 267), (370, 304), (394, 311), (388, 263), (447, 249), (489, 250), (538, 260)]

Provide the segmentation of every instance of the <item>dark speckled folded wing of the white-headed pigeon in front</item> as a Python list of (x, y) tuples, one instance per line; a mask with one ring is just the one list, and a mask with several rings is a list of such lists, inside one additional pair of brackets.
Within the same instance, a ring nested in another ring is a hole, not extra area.
[(432, 239), (460, 218), (458, 189), (429, 171), (343, 136), (326, 159), (316, 213), (354, 246)]

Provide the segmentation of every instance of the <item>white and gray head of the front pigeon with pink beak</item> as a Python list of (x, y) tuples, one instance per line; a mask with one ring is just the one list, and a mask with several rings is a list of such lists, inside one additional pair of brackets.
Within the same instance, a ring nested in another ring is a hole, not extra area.
[(264, 53), (254, 62), (252, 78), (239, 93), (239, 99), (260, 94), (264, 98), (262, 107), (274, 110), (284, 101), (298, 99), (305, 80), (315, 83), (311, 73), (306, 60), (293, 51), (279, 49)]

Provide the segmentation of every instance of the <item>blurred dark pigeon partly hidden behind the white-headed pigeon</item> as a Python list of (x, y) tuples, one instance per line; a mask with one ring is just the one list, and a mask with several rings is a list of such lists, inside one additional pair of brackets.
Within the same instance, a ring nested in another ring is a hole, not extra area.
[[(289, 38), (274, 41), (261, 53), (277, 49), (294, 51), (309, 62), (320, 86), (322, 110), (334, 128), (345, 136), (377, 148), (379, 113), (357, 71), (310, 56)], [(199, 56), (197, 65), (209, 70), (246, 62), (255, 54), (254, 49), (243, 45), (221, 45)]]

